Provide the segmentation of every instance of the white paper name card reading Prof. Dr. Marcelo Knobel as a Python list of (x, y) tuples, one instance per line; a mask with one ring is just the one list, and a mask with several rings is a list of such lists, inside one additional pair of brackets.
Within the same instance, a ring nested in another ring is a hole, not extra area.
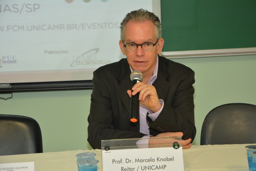
[(102, 149), (104, 171), (184, 171), (182, 147)]

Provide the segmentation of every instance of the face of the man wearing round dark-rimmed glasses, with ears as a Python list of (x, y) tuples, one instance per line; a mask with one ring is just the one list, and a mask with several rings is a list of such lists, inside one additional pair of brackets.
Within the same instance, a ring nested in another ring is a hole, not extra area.
[[(125, 26), (124, 44), (144, 42), (156, 43), (155, 26), (152, 21), (133, 22), (129, 21)], [(141, 46), (138, 46), (136, 51), (129, 52), (123, 46), (122, 40), (119, 41), (119, 46), (124, 55), (126, 55), (129, 65), (132, 70), (139, 70), (144, 74), (153, 74), (156, 66), (156, 57), (162, 51), (164, 40), (161, 38), (154, 46), (152, 51), (146, 52)]]

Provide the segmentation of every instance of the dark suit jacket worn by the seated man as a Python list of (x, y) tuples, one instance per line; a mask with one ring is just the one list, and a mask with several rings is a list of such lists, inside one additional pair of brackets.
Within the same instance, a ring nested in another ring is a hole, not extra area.
[[(182, 139), (196, 136), (194, 119), (194, 71), (187, 66), (158, 56), (157, 79), (153, 83), (164, 108), (155, 121), (150, 121), (150, 135), (183, 132)], [(88, 117), (88, 142), (101, 148), (101, 140), (141, 138), (140, 123), (131, 122), (131, 70), (127, 59), (108, 64), (93, 72), (91, 109)]]

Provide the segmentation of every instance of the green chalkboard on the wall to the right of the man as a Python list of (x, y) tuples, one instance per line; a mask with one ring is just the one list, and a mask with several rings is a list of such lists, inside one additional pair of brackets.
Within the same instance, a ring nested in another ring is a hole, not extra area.
[(163, 51), (256, 47), (256, 0), (161, 0)]

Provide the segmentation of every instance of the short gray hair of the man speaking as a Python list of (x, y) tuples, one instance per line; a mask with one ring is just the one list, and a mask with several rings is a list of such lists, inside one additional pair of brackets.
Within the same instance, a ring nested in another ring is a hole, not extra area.
[(125, 26), (128, 23), (128, 21), (134, 21), (134, 22), (144, 22), (147, 20), (150, 20), (154, 23), (155, 25), (155, 32), (156, 32), (156, 39), (161, 38), (161, 22), (159, 18), (153, 13), (153, 12), (148, 12), (147, 10), (135, 10), (132, 11), (124, 17), (123, 21), (121, 22), (121, 40), (124, 40), (124, 30)]

